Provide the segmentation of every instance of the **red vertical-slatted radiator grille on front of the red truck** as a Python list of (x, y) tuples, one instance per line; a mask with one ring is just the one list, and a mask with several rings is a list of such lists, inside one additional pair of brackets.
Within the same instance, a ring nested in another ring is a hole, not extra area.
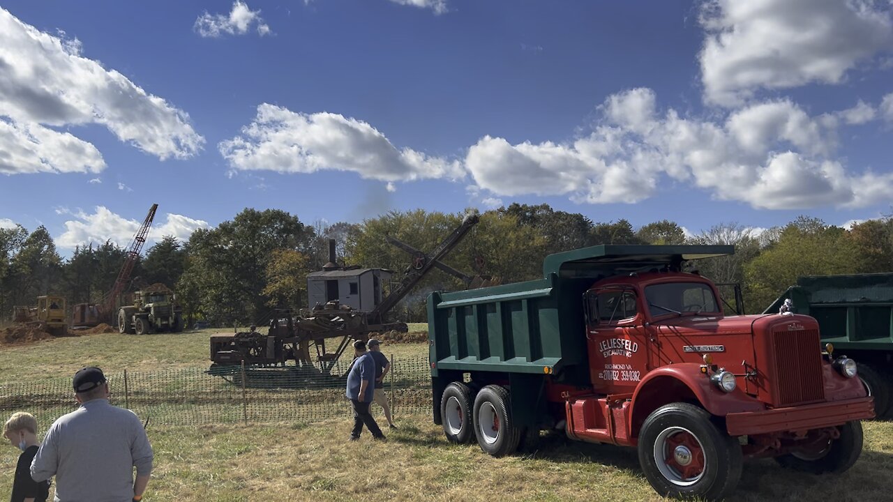
[(824, 400), (818, 330), (776, 330), (772, 332), (772, 351), (775, 406)]

